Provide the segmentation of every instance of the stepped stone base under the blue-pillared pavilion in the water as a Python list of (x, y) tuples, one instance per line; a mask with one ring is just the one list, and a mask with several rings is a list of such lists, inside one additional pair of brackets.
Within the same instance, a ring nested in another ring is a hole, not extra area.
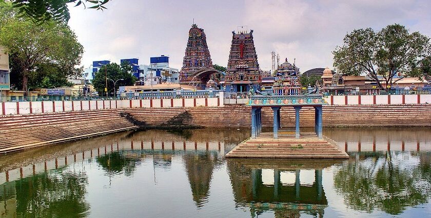
[(349, 158), (330, 138), (318, 138), (315, 133), (279, 132), (275, 139), (271, 132), (261, 133), (249, 138), (229, 151), (226, 157), (264, 157), (264, 158)]

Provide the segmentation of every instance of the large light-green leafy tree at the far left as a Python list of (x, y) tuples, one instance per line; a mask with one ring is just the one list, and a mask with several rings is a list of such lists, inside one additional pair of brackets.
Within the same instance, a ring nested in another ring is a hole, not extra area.
[(0, 3), (0, 11), (8, 10), (11, 17), (0, 22), (0, 44), (9, 50), (11, 77), (19, 78), (15, 87), (27, 91), (29, 78), (48, 67), (63, 78), (80, 76), (82, 69), (75, 66), (81, 63), (84, 49), (66, 24), (35, 25), (17, 17), (10, 3)]

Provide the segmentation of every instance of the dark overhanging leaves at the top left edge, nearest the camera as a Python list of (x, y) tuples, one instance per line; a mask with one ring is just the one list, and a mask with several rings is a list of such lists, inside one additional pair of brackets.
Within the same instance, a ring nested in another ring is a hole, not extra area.
[[(14, 8), (17, 8), (21, 17), (29, 17), (36, 24), (48, 21), (61, 21), (67, 23), (70, 18), (68, 3), (84, 8), (103, 10), (109, 0), (12, 0)], [(86, 6), (87, 4), (87, 6)]]

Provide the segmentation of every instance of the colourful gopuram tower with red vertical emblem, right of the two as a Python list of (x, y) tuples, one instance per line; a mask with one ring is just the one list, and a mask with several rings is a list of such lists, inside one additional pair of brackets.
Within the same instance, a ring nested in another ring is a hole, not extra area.
[(232, 45), (225, 77), (226, 91), (247, 92), (259, 89), (261, 83), (258, 55), (253, 42), (253, 30), (239, 27), (232, 31)]

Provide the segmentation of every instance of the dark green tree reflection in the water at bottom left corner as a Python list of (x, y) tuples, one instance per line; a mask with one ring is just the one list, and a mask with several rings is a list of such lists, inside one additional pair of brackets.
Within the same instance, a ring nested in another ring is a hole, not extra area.
[(84, 172), (68, 167), (7, 182), (0, 192), (2, 217), (85, 217), (87, 184)]

